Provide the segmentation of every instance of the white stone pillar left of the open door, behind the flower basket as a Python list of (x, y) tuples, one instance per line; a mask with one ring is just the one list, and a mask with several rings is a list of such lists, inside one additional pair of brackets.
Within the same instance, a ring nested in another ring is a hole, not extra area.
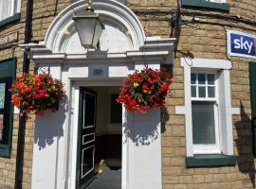
[[(50, 67), (50, 74), (60, 79), (61, 65)], [(64, 188), (64, 109), (46, 112), (35, 120), (32, 189)]]

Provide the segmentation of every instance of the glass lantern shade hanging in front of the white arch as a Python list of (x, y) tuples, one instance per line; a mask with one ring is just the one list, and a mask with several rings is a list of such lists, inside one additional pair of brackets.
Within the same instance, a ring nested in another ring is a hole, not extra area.
[(101, 32), (104, 26), (100, 18), (94, 12), (85, 15), (74, 15), (73, 20), (76, 24), (80, 41), (84, 48), (95, 48), (100, 41)]

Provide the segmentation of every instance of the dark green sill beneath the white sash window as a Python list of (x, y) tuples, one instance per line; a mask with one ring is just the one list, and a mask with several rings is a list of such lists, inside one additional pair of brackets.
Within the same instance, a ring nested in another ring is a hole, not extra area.
[(187, 167), (227, 166), (235, 163), (236, 156), (223, 154), (194, 155), (186, 158)]

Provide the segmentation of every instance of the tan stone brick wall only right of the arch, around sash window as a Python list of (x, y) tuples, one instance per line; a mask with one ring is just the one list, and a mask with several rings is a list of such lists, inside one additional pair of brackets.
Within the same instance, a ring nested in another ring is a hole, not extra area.
[[(245, 58), (228, 58), (227, 29), (256, 34), (254, 25), (245, 20), (255, 21), (253, 9), (256, 2), (229, 0), (230, 11), (220, 12), (209, 9), (181, 9), (181, 26), (176, 29), (177, 50), (173, 64), (174, 83), (171, 85), (172, 96), (167, 106), (162, 109), (162, 167), (164, 189), (193, 189), (193, 188), (254, 188), (255, 159), (252, 155), (251, 141), (251, 111), (248, 62)], [(148, 35), (169, 37), (172, 33), (170, 26), (171, 13), (177, 9), (176, 1), (128, 1), (136, 11)], [(166, 10), (169, 10), (166, 11)], [(192, 21), (193, 12), (199, 22)], [(211, 15), (223, 15), (215, 18)], [(236, 16), (239, 15), (239, 16)], [(236, 17), (242, 18), (235, 19)], [(186, 23), (183, 25), (182, 23)], [(188, 23), (189, 22), (189, 23)], [(230, 60), (231, 104), (240, 108), (241, 115), (233, 115), (233, 144), (237, 156), (235, 166), (187, 168), (185, 116), (174, 112), (175, 106), (184, 106), (183, 68), (180, 58), (192, 56), (201, 59)]]

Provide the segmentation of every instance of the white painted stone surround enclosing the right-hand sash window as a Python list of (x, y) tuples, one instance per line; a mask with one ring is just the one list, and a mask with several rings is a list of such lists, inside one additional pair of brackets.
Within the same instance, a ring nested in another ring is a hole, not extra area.
[[(182, 58), (184, 67), (185, 106), (176, 106), (176, 114), (185, 114), (186, 120), (186, 155), (193, 157), (198, 153), (192, 144), (192, 97), (191, 73), (195, 69), (205, 69), (218, 73), (218, 88), (222, 92), (219, 96), (219, 134), (220, 153), (233, 155), (232, 114), (240, 114), (239, 108), (231, 108), (229, 70), (232, 64), (229, 60), (191, 59)], [(208, 154), (208, 150), (201, 153)]]

